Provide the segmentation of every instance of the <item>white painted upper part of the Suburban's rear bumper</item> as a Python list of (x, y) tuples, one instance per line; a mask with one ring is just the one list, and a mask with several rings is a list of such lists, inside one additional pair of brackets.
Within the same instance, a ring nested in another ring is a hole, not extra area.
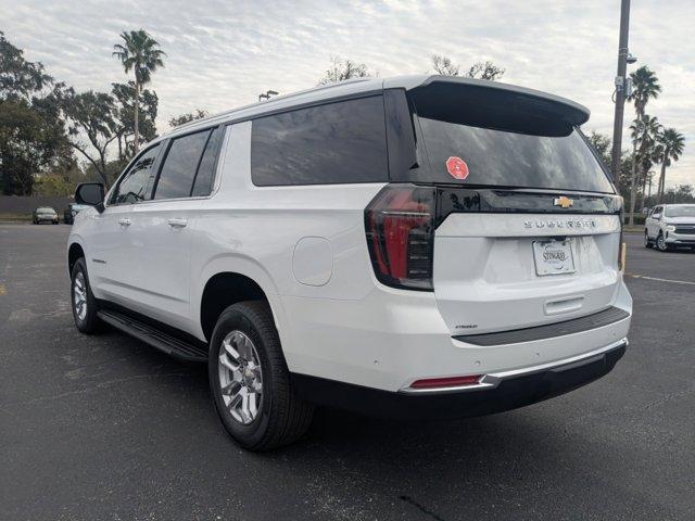
[(480, 345), (452, 336), (431, 293), (378, 290), (362, 301), (282, 303), (279, 316), (292, 317), (278, 321), (291, 372), (392, 393), (421, 379), (497, 374), (593, 353), (628, 336), (632, 310), (621, 281), (612, 300), (624, 312), (621, 320), (578, 331), (555, 331), (553, 326), (549, 338), (515, 336)]

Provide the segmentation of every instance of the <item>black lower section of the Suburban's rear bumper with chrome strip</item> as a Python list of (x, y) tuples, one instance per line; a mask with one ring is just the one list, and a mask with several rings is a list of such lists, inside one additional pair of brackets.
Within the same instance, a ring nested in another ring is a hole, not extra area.
[(464, 418), (501, 412), (557, 396), (610, 372), (628, 346), (623, 339), (552, 364), (485, 374), (462, 389), (379, 391), (293, 374), (300, 396), (318, 405), (399, 419)]

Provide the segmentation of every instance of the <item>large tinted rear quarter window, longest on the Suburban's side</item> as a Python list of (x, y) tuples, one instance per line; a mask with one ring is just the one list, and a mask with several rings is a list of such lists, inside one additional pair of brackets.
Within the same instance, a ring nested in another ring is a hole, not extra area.
[(389, 178), (380, 96), (261, 117), (251, 134), (256, 186), (379, 182)]

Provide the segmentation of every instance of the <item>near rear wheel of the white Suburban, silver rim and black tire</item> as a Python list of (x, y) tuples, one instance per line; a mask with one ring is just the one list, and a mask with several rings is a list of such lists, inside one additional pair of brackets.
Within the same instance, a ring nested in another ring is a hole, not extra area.
[(265, 302), (226, 308), (210, 343), (207, 373), (226, 431), (249, 450), (269, 450), (301, 437), (314, 407), (295, 393), (273, 314)]

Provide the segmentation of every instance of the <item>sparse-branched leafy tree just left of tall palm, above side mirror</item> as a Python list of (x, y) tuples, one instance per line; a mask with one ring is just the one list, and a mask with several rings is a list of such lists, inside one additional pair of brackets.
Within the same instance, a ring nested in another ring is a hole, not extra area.
[(106, 92), (76, 93), (71, 87), (61, 101), (71, 145), (96, 168), (104, 185), (111, 186), (106, 164), (109, 144), (118, 137), (115, 100)]

